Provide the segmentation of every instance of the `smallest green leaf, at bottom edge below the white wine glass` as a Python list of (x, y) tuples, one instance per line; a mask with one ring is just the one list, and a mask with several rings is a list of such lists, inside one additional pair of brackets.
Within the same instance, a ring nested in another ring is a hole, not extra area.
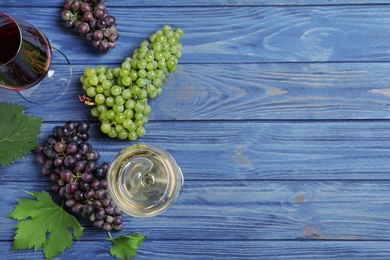
[(134, 233), (130, 236), (120, 235), (115, 238), (110, 235), (110, 237), (107, 238), (107, 240), (112, 241), (114, 244), (110, 248), (111, 255), (120, 259), (130, 259), (137, 255), (135, 250), (138, 249), (145, 239), (146, 236), (142, 236), (139, 233)]

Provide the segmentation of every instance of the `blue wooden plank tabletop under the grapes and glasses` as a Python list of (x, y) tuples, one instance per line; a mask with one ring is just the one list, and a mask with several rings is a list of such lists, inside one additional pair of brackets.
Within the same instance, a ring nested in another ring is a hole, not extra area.
[[(9, 90), (0, 102), (44, 118), (39, 142), (55, 125), (88, 120), (102, 162), (138, 142), (176, 158), (179, 200), (154, 218), (124, 217), (121, 233), (148, 236), (134, 259), (390, 258), (388, 1), (106, 0), (121, 37), (105, 55), (63, 26), (62, 2), (0, 0), (73, 70), (57, 102)], [(109, 139), (77, 98), (79, 76), (118, 65), (165, 23), (185, 31), (179, 68), (150, 102), (146, 136)], [(40, 169), (32, 154), (0, 168), (3, 259), (43, 259), (42, 250), (10, 251), (16, 222), (6, 217), (26, 197), (21, 188), (49, 189)], [(110, 259), (107, 234), (82, 224), (57, 259)]]

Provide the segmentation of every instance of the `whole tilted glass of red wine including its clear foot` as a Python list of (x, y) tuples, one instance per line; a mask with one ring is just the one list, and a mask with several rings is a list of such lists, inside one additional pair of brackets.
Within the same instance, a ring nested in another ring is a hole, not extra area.
[(70, 83), (69, 60), (37, 27), (0, 12), (0, 87), (33, 103), (58, 100)]

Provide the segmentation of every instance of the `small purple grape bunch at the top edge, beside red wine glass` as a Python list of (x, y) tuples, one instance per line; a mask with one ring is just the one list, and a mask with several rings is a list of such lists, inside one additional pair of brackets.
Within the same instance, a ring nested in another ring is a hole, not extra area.
[(119, 38), (115, 17), (108, 14), (103, 0), (65, 0), (61, 19), (101, 53), (115, 48)]

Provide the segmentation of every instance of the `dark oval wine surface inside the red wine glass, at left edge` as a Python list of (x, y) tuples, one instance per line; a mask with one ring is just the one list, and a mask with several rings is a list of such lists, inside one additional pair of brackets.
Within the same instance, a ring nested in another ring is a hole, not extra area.
[[(0, 27), (0, 65), (3, 65), (15, 57), (20, 46), (20, 33), (14, 23)], [(7, 50), (7, 51), (4, 51)]]

